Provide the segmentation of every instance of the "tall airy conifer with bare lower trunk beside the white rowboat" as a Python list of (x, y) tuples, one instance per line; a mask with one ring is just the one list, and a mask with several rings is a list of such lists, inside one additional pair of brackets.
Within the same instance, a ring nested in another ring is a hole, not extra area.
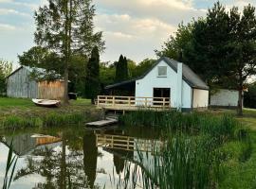
[(47, 6), (35, 12), (35, 43), (56, 53), (63, 62), (65, 104), (72, 54), (86, 55), (95, 45), (104, 48), (102, 33), (93, 32), (94, 15), (91, 0), (48, 0)]

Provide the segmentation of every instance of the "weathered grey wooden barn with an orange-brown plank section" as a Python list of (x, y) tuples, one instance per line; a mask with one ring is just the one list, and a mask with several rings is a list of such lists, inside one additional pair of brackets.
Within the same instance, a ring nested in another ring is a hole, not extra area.
[[(38, 68), (37, 68), (38, 69)], [(7, 95), (19, 98), (61, 99), (64, 82), (61, 79), (47, 81), (31, 77), (34, 68), (21, 66), (7, 77)]]

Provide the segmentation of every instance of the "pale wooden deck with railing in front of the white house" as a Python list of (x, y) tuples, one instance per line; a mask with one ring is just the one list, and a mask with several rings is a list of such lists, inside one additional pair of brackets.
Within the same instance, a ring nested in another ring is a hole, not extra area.
[(171, 109), (171, 102), (168, 97), (99, 95), (97, 107), (115, 111), (137, 111), (141, 109), (162, 111)]

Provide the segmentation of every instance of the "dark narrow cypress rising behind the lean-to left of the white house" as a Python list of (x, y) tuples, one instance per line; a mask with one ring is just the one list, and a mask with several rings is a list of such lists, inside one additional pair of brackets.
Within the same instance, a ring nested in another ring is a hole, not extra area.
[(120, 55), (119, 61), (116, 64), (116, 82), (128, 79), (128, 62), (126, 57)]

